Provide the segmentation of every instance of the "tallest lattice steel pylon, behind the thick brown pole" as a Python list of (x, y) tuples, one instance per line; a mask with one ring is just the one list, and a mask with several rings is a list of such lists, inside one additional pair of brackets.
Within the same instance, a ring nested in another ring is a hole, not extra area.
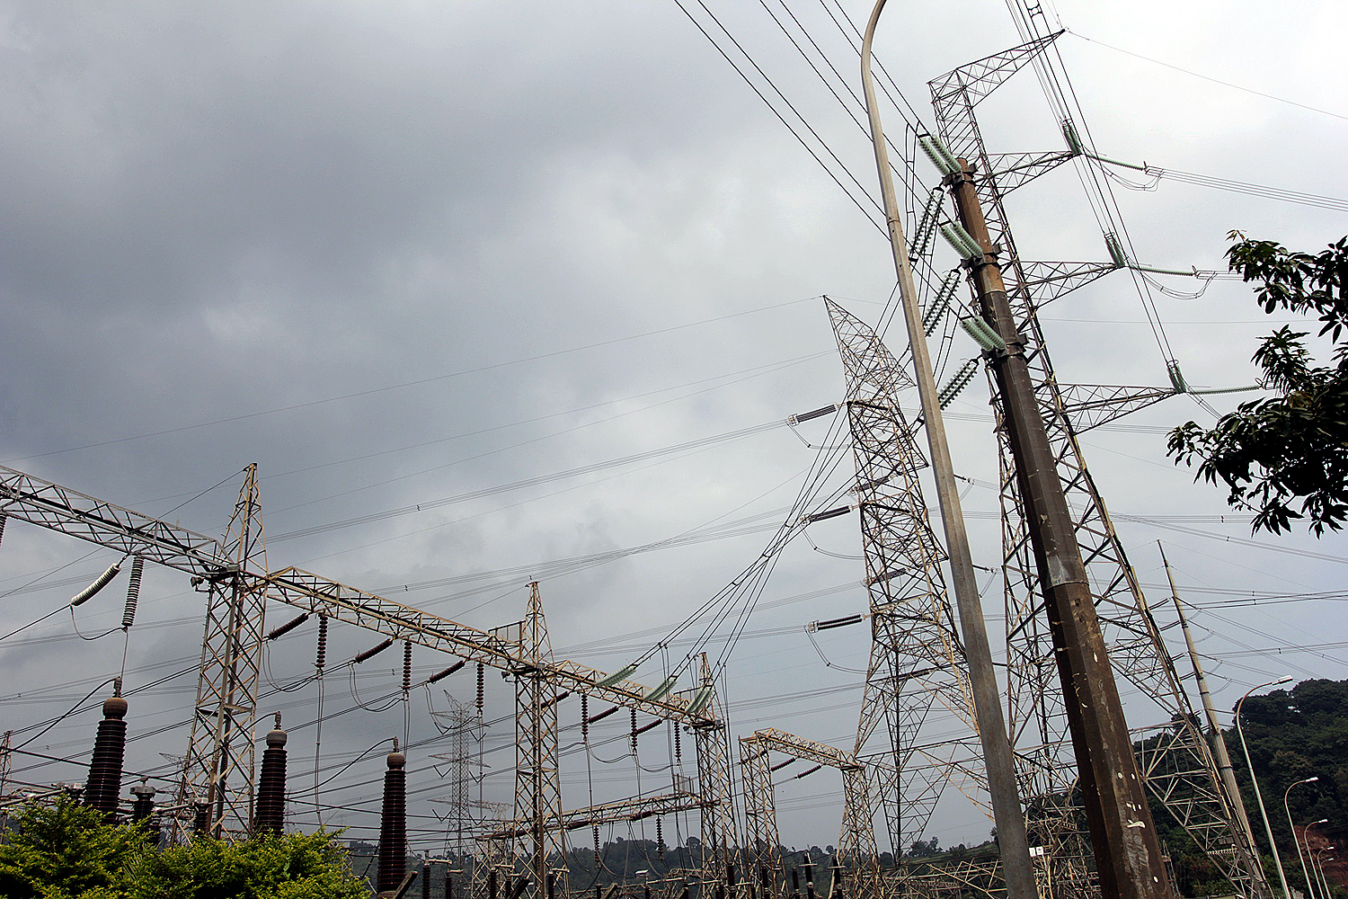
[[(1039, 411), (1047, 426), (1057, 460), (1058, 476), (1072, 508), (1077, 540), (1096, 597), (1100, 624), (1109, 642), (1111, 663), (1143, 695), (1185, 732), (1182, 740), (1166, 741), (1157, 749), (1165, 763), (1153, 759), (1150, 770), (1169, 772), (1148, 780), (1148, 787), (1166, 801), (1171, 813), (1208, 852), (1236, 888), (1252, 892), (1250, 871), (1233, 860), (1247, 857), (1236, 846), (1239, 828), (1232, 826), (1229, 799), (1220, 787), (1216, 766), (1206, 743), (1194, 726), (1193, 709), (1180, 686), (1180, 678), (1159, 629), (1128, 565), (1108, 512), (1086, 469), (1074, 415), (1086, 426), (1108, 421), (1099, 390), (1065, 395), (1058, 384), (1045, 345), (1037, 310), (1046, 302), (1074, 290), (1117, 266), (1099, 263), (1024, 263), (1016, 252), (1002, 197), (1006, 189), (998, 178), (1008, 166), (1004, 156), (989, 156), (979, 132), (973, 106), (1006, 78), (1033, 61), (1057, 35), (1046, 35), (1020, 47), (961, 66), (930, 84), (940, 136), (957, 158), (968, 159), (979, 173), (979, 199), (987, 217), (992, 243), (1000, 247), (1000, 266), (1007, 282), (1016, 328), (1024, 340), (1024, 356), (1035, 383)], [(1053, 156), (1053, 159), (1050, 159)], [(1019, 163), (1020, 173), (1039, 174), (1068, 156), (1046, 154)], [(1027, 178), (1012, 175), (1010, 186)], [(991, 379), (989, 379), (991, 380)], [(1124, 388), (1109, 399), (1131, 408), (1162, 399), (1163, 391)], [(993, 384), (993, 395), (996, 387)], [(1169, 395), (1169, 394), (1167, 394)], [(1086, 895), (1093, 887), (1086, 864), (1089, 855), (1085, 826), (1072, 799), (1076, 763), (1062, 708), (1062, 690), (1053, 656), (1038, 571), (1023, 520), (1015, 466), (998, 398), (998, 438), (1003, 512), (1004, 590), (1007, 604), (1007, 651), (1010, 673), (1008, 726), (1022, 762), (1022, 793), (1026, 797), (1031, 842), (1047, 850), (1041, 884), (1046, 895)], [(1146, 766), (1146, 759), (1143, 760)], [(1173, 788), (1184, 772), (1185, 788)]]

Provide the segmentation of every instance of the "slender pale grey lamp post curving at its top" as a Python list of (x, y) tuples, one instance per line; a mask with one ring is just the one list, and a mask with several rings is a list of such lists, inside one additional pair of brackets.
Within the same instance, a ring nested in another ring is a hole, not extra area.
[[(1024, 811), (1020, 809), (1020, 794), (1016, 788), (1011, 739), (1007, 736), (1006, 717), (1002, 714), (1002, 691), (992, 667), (992, 648), (988, 646), (988, 629), (983, 620), (979, 584), (973, 576), (969, 538), (964, 530), (960, 491), (954, 483), (950, 446), (945, 439), (945, 419), (941, 416), (936, 379), (931, 375), (931, 359), (927, 354), (926, 332), (922, 328), (922, 313), (918, 309), (918, 295), (913, 284), (913, 268), (909, 264), (909, 243), (903, 236), (903, 218), (895, 198), (894, 178), (890, 173), (890, 154), (884, 144), (880, 111), (875, 102), (875, 82), (871, 77), (871, 42), (875, 38), (875, 24), (880, 20), (883, 9), (884, 0), (878, 0), (861, 40), (861, 89), (865, 93), (871, 140), (875, 144), (875, 164), (880, 173), (880, 194), (884, 199), (884, 218), (890, 229), (890, 247), (894, 251), (894, 268), (899, 278), (899, 301), (903, 306), (903, 321), (909, 329), (909, 342), (913, 346), (913, 372), (922, 403), (927, 447), (931, 452), (931, 472), (936, 477), (937, 500), (941, 504), (941, 524), (945, 528), (946, 553), (950, 557), (954, 602), (960, 611), (960, 632), (964, 636), (964, 655), (969, 666), (969, 689), (973, 693), (973, 713), (979, 722), (979, 740), (983, 745), (988, 793), (992, 799), (992, 818), (998, 826), (998, 845), (1002, 849), (1002, 876), (1006, 880), (1008, 899), (1035, 899), (1038, 890), (1034, 868), (1030, 863), (1030, 840), (1026, 836)], [(894, 850), (898, 853), (902, 848), (895, 846)]]

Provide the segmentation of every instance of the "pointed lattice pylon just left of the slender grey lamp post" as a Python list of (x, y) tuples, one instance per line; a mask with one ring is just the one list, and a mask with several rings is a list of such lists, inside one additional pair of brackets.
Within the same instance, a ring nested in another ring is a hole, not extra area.
[(847, 372), (869, 593), (871, 660), (855, 757), (872, 779), (899, 857), (926, 828), (945, 784), (977, 767), (968, 740), (933, 736), (933, 725), (948, 731), (953, 714), (973, 735), (976, 724), (941, 570), (945, 553), (918, 483), (926, 461), (899, 407), (913, 384), (869, 328), (832, 301), (828, 310)]

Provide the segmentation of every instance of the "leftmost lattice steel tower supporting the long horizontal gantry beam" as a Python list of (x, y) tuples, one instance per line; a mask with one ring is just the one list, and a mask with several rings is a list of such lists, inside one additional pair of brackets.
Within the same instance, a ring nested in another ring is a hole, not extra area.
[(267, 607), (263, 581), (249, 577), (267, 574), (256, 464), (244, 469), (222, 554), (229, 565), (205, 577), (206, 633), (178, 786), (179, 806), (206, 805), (206, 832), (217, 838), (247, 834), (252, 821), (253, 714)]

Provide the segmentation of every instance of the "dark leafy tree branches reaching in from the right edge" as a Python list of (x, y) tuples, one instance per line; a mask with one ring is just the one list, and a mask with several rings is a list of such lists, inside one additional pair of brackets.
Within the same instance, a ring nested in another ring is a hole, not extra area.
[[(1166, 454), (1197, 477), (1220, 478), (1235, 508), (1255, 512), (1254, 530), (1340, 530), (1348, 519), (1348, 237), (1317, 255), (1231, 232), (1231, 271), (1258, 283), (1266, 313), (1314, 314), (1328, 334), (1329, 365), (1317, 365), (1304, 342), (1309, 332), (1282, 326), (1264, 337), (1252, 361), (1263, 385), (1279, 395), (1242, 403), (1211, 430), (1188, 422), (1170, 431)], [(1299, 500), (1299, 511), (1291, 504)]]

